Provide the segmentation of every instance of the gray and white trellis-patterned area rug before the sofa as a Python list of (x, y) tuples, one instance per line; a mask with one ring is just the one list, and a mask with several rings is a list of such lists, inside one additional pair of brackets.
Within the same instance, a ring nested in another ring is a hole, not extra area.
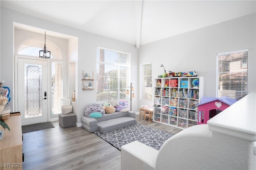
[(98, 131), (94, 133), (119, 150), (121, 149), (121, 146), (135, 140), (159, 150), (164, 142), (173, 136), (173, 134), (158, 130), (156, 128), (148, 127), (140, 123), (107, 133), (100, 133)]

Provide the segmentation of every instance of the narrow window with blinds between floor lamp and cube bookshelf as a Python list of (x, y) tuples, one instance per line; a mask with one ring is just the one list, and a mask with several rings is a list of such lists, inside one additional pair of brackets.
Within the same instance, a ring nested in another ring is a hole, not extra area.
[(152, 63), (140, 65), (140, 99), (152, 99)]

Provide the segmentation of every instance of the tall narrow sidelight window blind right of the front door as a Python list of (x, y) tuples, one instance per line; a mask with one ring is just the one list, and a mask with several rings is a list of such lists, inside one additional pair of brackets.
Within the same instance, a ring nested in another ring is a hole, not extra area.
[(52, 61), (52, 115), (61, 113), (62, 63)]

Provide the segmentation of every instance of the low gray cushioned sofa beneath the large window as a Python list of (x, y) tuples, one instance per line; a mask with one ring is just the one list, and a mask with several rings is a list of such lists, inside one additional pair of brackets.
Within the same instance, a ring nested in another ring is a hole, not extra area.
[(110, 113), (99, 118), (82, 116), (82, 127), (89, 132), (99, 131), (101, 133), (106, 133), (134, 125), (135, 123), (136, 119), (134, 111)]

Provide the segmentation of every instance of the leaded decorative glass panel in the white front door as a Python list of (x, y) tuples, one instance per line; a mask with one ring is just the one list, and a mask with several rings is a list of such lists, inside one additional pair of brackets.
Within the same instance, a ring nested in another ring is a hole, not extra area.
[(42, 117), (42, 65), (24, 64), (24, 119)]

